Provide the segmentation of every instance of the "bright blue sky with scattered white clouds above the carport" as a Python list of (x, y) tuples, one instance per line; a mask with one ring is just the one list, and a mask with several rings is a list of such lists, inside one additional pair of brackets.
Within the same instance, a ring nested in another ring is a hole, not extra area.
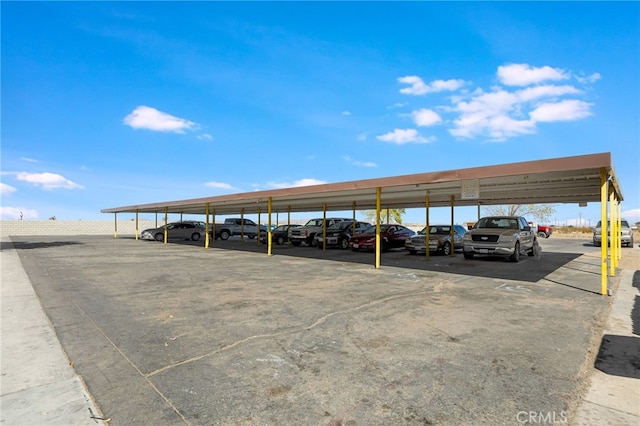
[(640, 221), (638, 2), (0, 7), (3, 219), (611, 152)]

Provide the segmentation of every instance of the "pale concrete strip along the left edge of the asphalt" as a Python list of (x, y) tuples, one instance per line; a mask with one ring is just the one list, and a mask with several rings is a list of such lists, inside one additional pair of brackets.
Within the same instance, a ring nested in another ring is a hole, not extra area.
[(0, 423), (96, 425), (104, 422), (69, 365), (20, 258), (2, 238)]

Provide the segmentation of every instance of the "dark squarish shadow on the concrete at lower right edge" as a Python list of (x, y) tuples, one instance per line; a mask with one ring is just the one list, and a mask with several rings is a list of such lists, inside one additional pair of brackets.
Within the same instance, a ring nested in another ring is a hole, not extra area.
[(640, 337), (602, 336), (595, 368), (613, 376), (640, 379)]

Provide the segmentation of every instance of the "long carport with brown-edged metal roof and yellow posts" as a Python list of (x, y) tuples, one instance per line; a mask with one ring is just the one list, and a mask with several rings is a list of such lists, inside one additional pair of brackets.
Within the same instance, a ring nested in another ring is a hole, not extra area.
[[(136, 215), (136, 238), (140, 213), (167, 215), (261, 214), (272, 223), (273, 213), (322, 211), (376, 210), (376, 223), (384, 209), (425, 208), (425, 221), (429, 224), (431, 207), (505, 205), (505, 204), (558, 204), (601, 203), (603, 235), (612, 235), (610, 247), (602, 244), (601, 293), (610, 293), (608, 276), (614, 276), (621, 257), (620, 203), (623, 201), (616, 178), (611, 153), (598, 153), (572, 157), (552, 158), (519, 163), (499, 164), (459, 170), (426, 172), (411, 175), (365, 179), (323, 185), (284, 188), (267, 191), (244, 192), (188, 200), (166, 201), (103, 209), (114, 213), (117, 237), (117, 214)], [(289, 220), (289, 219), (288, 219)], [(613, 229), (607, 229), (608, 220)], [(271, 227), (269, 226), (269, 229)], [(379, 242), (379, 226), (376, 232)], [(208, 234), (205, 247), (209, 247)], [(376, 244), (375, 266), (380, 268), (380, 244)], [(271, 233), (268, 255), (271, 251)], [(428, 253), (427, 253), (428, 256)]]

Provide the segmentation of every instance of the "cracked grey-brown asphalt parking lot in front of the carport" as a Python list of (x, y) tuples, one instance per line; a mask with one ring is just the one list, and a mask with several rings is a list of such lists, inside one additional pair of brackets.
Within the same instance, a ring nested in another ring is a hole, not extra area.
[(610, 303), (584, 240), (517, 264), (391, 251), (378, 270), (255, 240), (12, 240), (113, 425), (570, 420)]

